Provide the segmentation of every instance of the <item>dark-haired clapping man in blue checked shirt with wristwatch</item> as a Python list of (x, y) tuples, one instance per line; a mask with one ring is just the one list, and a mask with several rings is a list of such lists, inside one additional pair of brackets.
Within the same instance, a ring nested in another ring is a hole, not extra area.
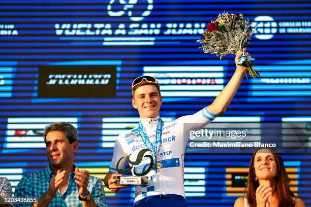
[(14, 196), (36, 197), (33, 205), (40, 207), (107, 206), (101, 180), (73, 164), (78, 149), (77, 129), (69, 123), (55, 122), (45, 127), (43, 135), (49, 166), (26, 174)]

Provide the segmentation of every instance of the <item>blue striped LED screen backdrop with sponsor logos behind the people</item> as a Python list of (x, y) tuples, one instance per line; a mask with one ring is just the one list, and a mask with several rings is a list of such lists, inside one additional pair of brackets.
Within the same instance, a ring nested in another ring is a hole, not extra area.
[[(14, 189), (24, 174), (47, 166), (42, 130), (66, 121), (79, 131), (75, 163), (103, 179), (116, 136), (139, 121), (131, 106), (135, 77), (159, 78), (164, 121), (209, 105), (232, 76), (234, 56), (203, 54), (196, 40), (224, 10), (243, 13), (257, 26), (247, 51), (261, 77), (245, 78), (215, 122), (302, 123), (309, 134), (310, 6), (286, 0), (1, 1), (0, 176)], [(307, 153), (308, 139), (301, 145)], [(282, 157), (293, 192), (311, 205), (307, 153)], [(188, 204), (232, 206), (244, 190), (250, 158), (188, 148)], [(133, 190), (105, 189), (107, 203), (131, 206)]]

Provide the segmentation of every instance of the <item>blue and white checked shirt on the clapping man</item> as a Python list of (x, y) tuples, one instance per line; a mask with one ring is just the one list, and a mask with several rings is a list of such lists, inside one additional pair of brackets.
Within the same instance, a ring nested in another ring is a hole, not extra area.
[[(76, 166), (74, 166), (75, 168)], [(52, 199), (49, 206), (82, 206), (78, 195), (78, 186), (75, 183), (75, 172), (69, 174), (68, 187), (63, 195), (57, 190), (56, 196)], [(37, 197), (40, 198), (49, 189), (51, 178), (54, 176), (54, 172), (50, 166), (42, 169), (38, 172), (32, 172), (26, 174), (18, 183), (15, 188), (14, 196), (22, 197)], [(96, 202), (97, 206), (106, 207), (105, 192), (103, 184), (99, 178), (89, 176), (89, 182), (87, 190), (90, 192), (92, 198)], [(16, 204), (14, 206), (31, 206), (32, 204)]]

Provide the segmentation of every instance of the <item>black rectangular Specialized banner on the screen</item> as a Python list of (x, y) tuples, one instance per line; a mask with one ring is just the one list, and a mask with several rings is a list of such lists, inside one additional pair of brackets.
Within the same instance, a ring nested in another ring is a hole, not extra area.
[(114, 65), (44, 65), (39, 67), (40, 98), (111, 98), (116, 96)]

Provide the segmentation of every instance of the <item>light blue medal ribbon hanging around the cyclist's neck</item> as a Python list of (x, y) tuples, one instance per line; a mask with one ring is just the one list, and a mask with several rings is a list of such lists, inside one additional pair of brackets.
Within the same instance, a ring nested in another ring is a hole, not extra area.
[(146, 148), (148, 148), (149, 150), (151, 150), (151, 152), (153, 152), (151, 153), (151, 156), (153, 157), (153, 160), (154, 160), (153, 166), (155, 168), (155, 173), (157, 173), (157, 155), (158, 155), (159, 146), (162, 140), (161, 137), (162, 137), (163, 125), (164, 125), (164, 122), (162, 121), (161, 118), (159, 118), (158, 124), (157, 124), (157, 130), (155, 130), (155, 139), (154, 139), (153, 144), (150, 142), (147, 132), (144, 126), (142, 125), (141, 121), (139, 122), (138, 128), (137, 128), (139, 135), (142, 141), (144, 142)]

